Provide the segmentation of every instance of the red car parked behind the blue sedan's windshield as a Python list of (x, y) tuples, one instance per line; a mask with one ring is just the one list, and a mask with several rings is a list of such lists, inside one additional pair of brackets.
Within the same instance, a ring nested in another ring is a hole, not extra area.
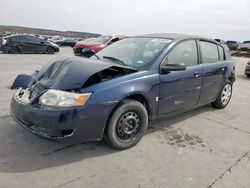
[(79, 41), (75, 44), (74, 54), (78, 56), (90, 57), (106, 46), (125, 38), (124, 36), (100, 36), (92, 41)]

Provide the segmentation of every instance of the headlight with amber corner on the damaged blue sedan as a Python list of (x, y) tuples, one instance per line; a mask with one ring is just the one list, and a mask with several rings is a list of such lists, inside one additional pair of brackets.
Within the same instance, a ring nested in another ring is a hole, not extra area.
[(50, 107), (83, 106), (90, 95), (91, 93), (72, 93), (50, 89), (39, 98), (39, 103)]

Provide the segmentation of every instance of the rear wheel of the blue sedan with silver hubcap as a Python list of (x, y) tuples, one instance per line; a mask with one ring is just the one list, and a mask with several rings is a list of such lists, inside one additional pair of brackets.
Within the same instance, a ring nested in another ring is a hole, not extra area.
[(216, 101), (212, 102), (212, 106), (217, 109), (225, 108), (231, 100), (232, 93), (233, 85), (230, 81), (228, 81), (223, 85)]

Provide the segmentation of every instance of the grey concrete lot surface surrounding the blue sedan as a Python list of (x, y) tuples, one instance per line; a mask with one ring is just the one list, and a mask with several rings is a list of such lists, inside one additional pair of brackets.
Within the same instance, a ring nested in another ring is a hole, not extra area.
[(0, 187), (200, 188), (250, 187), (249, 59), (237, 61), (233, 98), (224, 110), (210, 105), (151, 124), (134, 148), (103, 142), (66, 145), (38, 138), (9, 116), (19, 73), (32, 73), (57, 56), (0, 55)]

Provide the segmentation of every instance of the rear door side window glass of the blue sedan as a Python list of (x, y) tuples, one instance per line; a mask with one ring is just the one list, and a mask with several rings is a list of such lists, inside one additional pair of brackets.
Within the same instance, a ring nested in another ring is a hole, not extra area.
[(200, 47), (203, 63), (216, 63), (219, 61), (217, 44), (200, 41)]

